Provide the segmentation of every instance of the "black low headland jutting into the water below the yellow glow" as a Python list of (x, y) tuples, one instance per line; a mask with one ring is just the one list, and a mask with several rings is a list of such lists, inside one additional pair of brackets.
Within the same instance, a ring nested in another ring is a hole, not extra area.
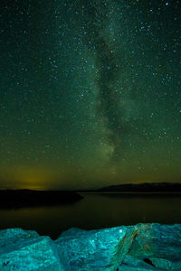
[(80, 194), (69, 191), (1, 190), (0, 209), (52, 206), (82, 198)]

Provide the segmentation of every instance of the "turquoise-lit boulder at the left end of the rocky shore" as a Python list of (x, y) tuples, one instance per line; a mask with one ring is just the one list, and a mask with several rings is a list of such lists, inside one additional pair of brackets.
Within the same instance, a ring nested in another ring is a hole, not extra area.
[(63, 271), (56, 245), (33, 230), (0, 231), (0, 270)]

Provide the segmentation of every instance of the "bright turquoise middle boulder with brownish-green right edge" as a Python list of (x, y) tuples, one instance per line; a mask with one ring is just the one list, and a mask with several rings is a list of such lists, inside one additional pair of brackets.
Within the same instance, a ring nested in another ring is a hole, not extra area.
[(70, 229), (55, 240), (66, 270), (117, 270), (129, 253), (137, 227), (110, 229)]

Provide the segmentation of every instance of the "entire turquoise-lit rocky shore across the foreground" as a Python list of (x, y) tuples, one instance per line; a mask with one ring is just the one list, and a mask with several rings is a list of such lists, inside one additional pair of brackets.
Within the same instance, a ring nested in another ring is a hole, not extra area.
[(181, 270), (181, 224), (68, 229), (56, 240), (0, 230), (0, 271)]

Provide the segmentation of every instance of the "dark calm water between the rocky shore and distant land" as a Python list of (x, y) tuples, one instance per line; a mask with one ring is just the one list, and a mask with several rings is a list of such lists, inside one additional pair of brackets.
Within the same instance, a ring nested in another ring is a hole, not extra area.
[(141, 222), (181, 223), (181, 195), (81, 194), (84, 199), (72, 204), (0, 210), (0, 229), (34, 229), (54, 239), (71, 227), (100, 229)]

